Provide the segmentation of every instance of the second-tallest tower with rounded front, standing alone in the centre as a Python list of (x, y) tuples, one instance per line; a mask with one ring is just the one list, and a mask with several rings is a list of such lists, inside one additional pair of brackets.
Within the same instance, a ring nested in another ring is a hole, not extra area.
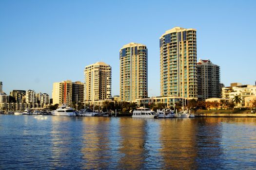
[(120, 49), (121, 102), (135, 102), (148, 96), (147, 58), (147, 47), (143, 44), (132, 42)]

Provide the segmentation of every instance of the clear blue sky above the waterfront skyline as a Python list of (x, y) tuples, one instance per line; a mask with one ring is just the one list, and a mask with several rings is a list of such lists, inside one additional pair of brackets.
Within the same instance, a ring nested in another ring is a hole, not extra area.
[(197, 60), (220, 66), (221, 82), (256, 81), (256, 0), (0, 0), (0, 81), (51, 96), (54, 82), (84, 82), (85, 66), (112, 67), (119, 95), (119, 50), (148, 48), (148, 94), (160, 95), (159, 37), (197, 29)]

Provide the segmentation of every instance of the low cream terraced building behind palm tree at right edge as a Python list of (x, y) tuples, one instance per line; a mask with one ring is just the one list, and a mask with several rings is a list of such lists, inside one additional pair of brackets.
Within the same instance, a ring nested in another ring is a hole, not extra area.
[(248, 107), (248, 103), (256, 97), (256, 85), (231, 83), (230, 86), (222, 88), (222, 98), (233, 100), (235, 96), (238, 96), (241, 99), (241, 102), (238, 103), (237, 107)]

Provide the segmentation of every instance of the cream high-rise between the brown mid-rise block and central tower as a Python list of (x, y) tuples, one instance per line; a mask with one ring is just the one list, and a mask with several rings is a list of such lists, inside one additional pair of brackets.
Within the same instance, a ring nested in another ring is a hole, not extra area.
[(84, 100), (100, 101), (111, 98), (111, 67), (103, 62), (84, 68)]

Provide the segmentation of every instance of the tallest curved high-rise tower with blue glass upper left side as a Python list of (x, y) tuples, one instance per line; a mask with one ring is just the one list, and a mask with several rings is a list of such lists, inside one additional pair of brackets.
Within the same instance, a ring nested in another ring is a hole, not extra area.
[(160, 40), (160, 95), (197, 99), (197, 31), (175, 27)]

